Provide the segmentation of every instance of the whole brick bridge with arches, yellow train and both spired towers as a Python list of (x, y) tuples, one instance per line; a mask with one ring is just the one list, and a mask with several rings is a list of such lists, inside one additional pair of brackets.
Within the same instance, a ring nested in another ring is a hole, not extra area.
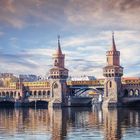
[[(107, 51), (107, 65), (103, 68), (105, 79), (77, 80), (68, 79), (68, 69), (65, 68), (65, 55), (62, 53), (60, 38), (58, 47), (53, 55), (53, 67), (49, 70), (48, 81), (18, 82), (11, 87), (0, 88), (0, 103), (36, 101), (52, 102), (66, 106), (69, 96), (102, 95), (108, 106), (119, 102), (138, 102), (140, 99), (140, 78), (123, 78), (123, 67), (120, 66), (120, 52), (117, 51), (114, 34), (112, 34), (112, 48)], [(93, 96), (94, 98), (94, 96)], [(118, 100), (119, 99), (119, 100)], [(107, 103), (108, 102), (108, 103)]]

